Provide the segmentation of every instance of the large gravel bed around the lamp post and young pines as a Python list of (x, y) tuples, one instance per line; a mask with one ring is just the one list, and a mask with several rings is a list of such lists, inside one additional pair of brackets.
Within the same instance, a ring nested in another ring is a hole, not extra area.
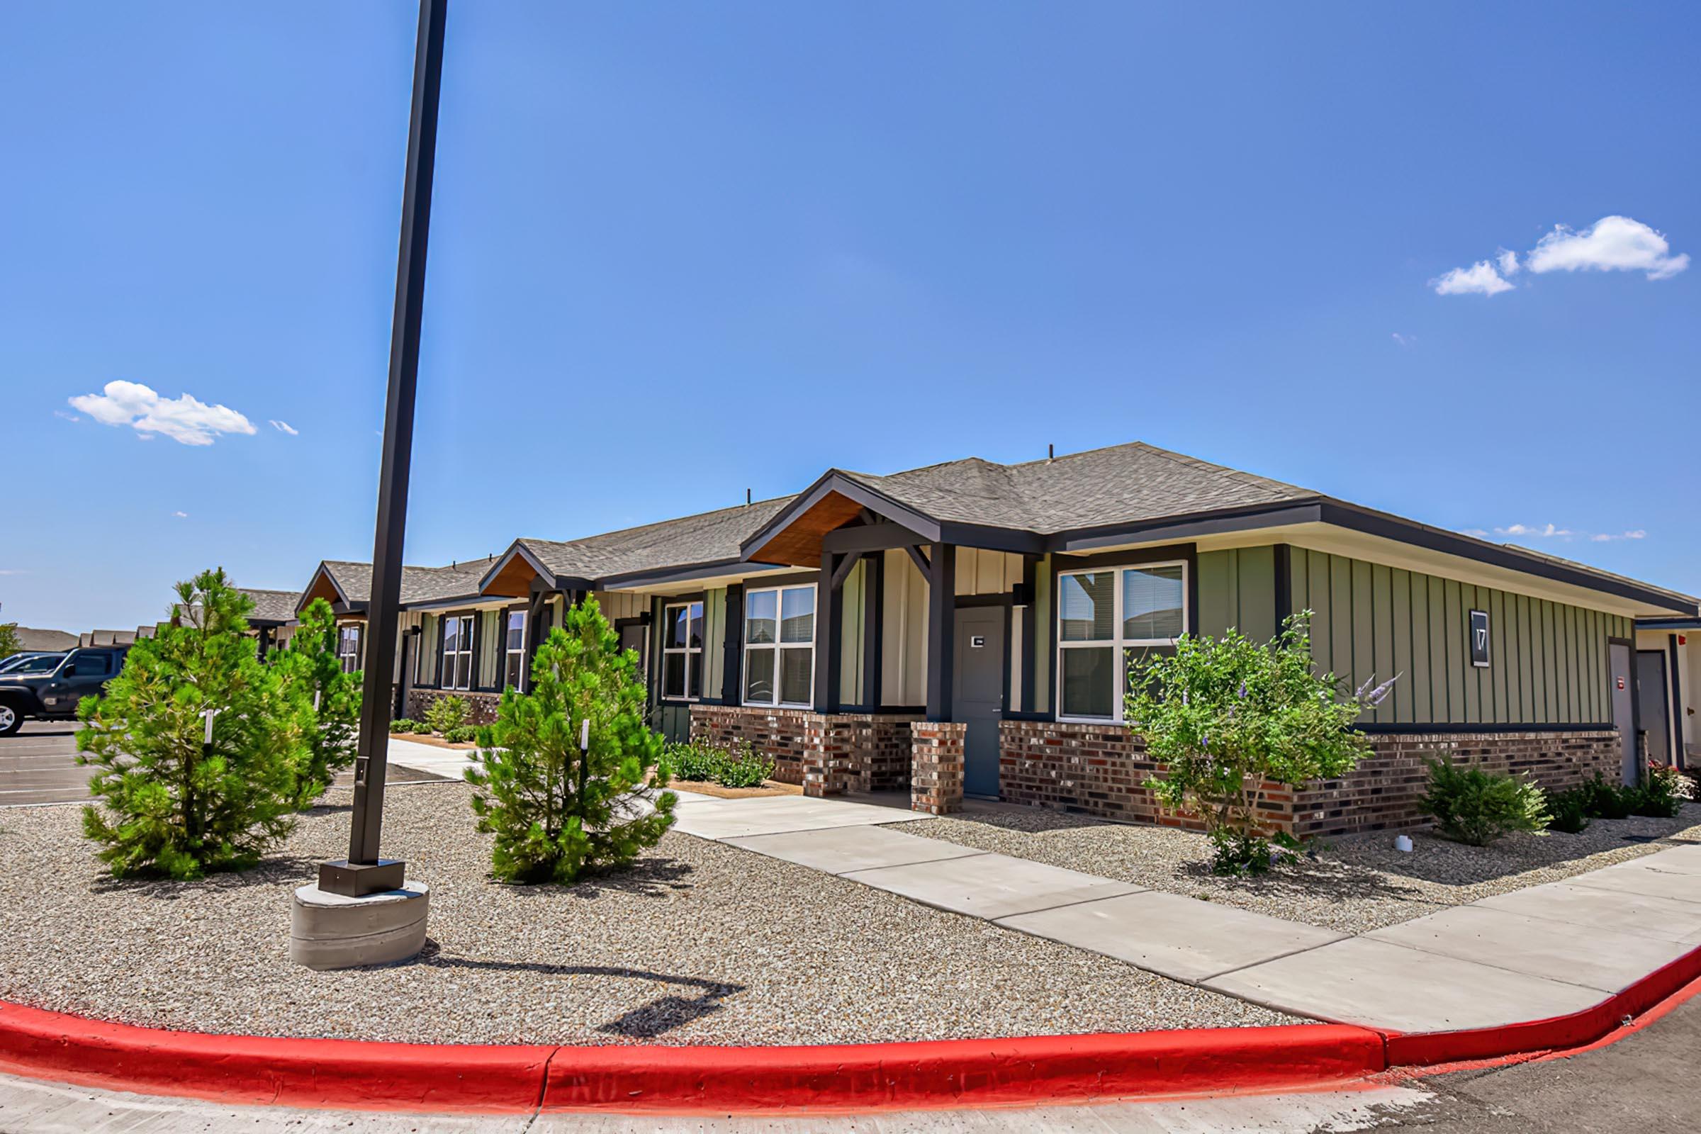
[(289, 894), (347, 850), (349, 792), (262, 867), (117, 882), (78, 808), (0, 814), (0, 1000), (153, 1027), (425, 1042), (823, 1044), (1294, 1022), (823, 876), (667, 835), (575, 887), (492, 882), (459, 784), (395, 787), (432, 887), (422, 961), (289, 962)]

